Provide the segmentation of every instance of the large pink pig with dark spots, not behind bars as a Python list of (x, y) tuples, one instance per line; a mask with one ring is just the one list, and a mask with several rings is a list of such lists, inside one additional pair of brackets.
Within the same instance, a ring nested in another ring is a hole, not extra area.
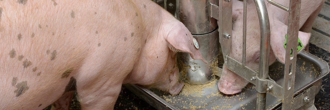
[(75, 83), (82, 109), (113, 109), (125, 83), (177, 94), (176, 52), (204, 61), (150, 0), (0, 0), (0, 44), (0, 110), (43, 109)]

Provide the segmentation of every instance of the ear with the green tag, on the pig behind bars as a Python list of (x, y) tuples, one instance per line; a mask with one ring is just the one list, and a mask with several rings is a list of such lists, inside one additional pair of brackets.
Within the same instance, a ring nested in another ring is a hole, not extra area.
[[(271, 47), (277, 60), (279, 60), (281, 63), (285, 62), (284, 42), (285, 42), (286, 34), (287, 34), (287, 25), (285, 25), (281, 21), (277, 21), (271, 27), (271, 38), (270, 38)], [(298, 37), (300, 41), (303, 43), (304, 46), (303, 49), (304, 49), (309, 41), (309, 38), (311, 37), (311, 33), (299, 31)]]

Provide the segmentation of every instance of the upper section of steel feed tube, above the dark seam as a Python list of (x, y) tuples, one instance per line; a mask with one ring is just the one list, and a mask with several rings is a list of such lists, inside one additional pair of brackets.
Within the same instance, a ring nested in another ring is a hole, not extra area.
[(179, 0), (178, 19), (192, 35), (204, 35), (215, 30), (218, 25), (210, 16), (210, 1), (215, 0)]

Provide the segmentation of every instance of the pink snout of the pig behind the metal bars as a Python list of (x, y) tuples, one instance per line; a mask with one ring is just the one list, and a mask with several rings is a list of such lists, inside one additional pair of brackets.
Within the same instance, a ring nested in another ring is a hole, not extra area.
[(223, 66), (222, 76), (218, 83), (219, 91), (224, 94), (235, 94), (241, 92), (242, 89), (248, 84), (248, 81), (241, 76)]

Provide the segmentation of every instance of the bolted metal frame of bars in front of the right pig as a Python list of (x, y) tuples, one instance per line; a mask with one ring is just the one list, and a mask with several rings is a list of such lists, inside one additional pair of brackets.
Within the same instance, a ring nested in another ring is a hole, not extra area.
[[(269, 3), (289, 12), (288, 19), (288, 47), (286, 49), (285, 57), (285, 67), (284, 67), (284, 86), (281, 87), (273, 80), (268, 79), (268, 64), (269, 64), (269, 51), (270, 51), (270, 26), (267, 9), (264, 0), (254, 0), (255, 6), (257, 8), (257, 13), (260, 23), (260, 63), (259, 63), (259, 73), (248, 68), (246, 63), (246, 15), (247, 15), (247, 0), (244, 0), (244, 15), (243, 15), (243, 61), (242, 63), (236, 61), (235, 59), (228, 56), (230, 52), (231, 40), (228, 38), (232, 34), (231, 20), (232, 20), (232, 3), (230, 0), (219, 0), (219, 7), (211, 4), (211, 17), (219, 20), (219, 42), (221, 45), (222, 53), (225, 59), (225, 64), (227, 68), (232, 70), (236, 74), (245, 78), (252, 84), (256, 85), (256, 90), (258, 91), (257, 99), (257, 110), (266, 109), (266, 93), (281, 99), (282, 110), (293, 110), (298, 109), (302, 106), (311, 107), (309, 109), (316, 109), (313, 103), (306, 101), (306, 96), (309, 98), (315, 97), (315, 87), (307, 89), (304, 94), (299, 94), (294, 97), (294, 80), (295, 80), (295, 68), (296, 68), (296, 56), (297, 56), (297, 39), (299, 28), (299, 13), (300, 13), (300, 0), (290, 0), (290, 7), (285, 6), (272, 1), (267, 0)], [(218, 11), (216, 10), (218, 9)], [(218, 14), (217, 14), (218, 13)], [(293, 55), (290, 57), (290, 50), (293, 49)], [(311, 91), (312, 89), (312, 91)], [(303, 97), (303, 98), (302, 98)]]

